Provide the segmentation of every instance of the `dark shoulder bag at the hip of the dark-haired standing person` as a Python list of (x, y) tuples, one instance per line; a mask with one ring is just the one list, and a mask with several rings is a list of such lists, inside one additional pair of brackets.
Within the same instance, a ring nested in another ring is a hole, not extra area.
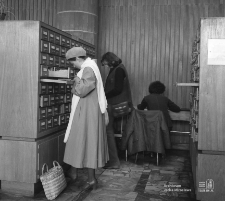
[(112, 113), (114, 117), (122, 117), (131, 112), (130, 103), (128, 101), (112, 105)]

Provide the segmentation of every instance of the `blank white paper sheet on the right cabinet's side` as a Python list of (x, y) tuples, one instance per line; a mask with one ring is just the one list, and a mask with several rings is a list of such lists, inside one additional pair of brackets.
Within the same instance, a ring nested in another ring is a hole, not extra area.
[(225, 39), (208, 39), (208, 65), (225, 65)]

